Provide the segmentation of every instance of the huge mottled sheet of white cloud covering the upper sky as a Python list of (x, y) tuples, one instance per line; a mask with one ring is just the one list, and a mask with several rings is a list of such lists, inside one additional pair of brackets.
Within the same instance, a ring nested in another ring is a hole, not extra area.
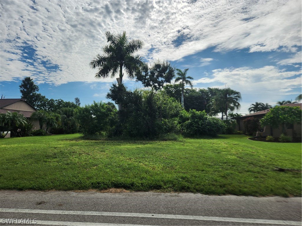
[[(300, 1), (37, 1), (34, 4), (2, 0), (0, 9), (2, 81), (31, 76), (38, 83), (55, 85), (94, 82), (96, 70), (89, 67), (89, 62), (102, 53), (107, 30), (113, 33), (126, 30), (130, 38), (144, 41), (145, 47), (138, 53), (149, 60), (181, 60), (213, 46), (215, 51), (249, 48), (255, 52), (278, 48), (296, 51), (296, 46), (301, 45)], [(175, 44), (178, 39), (179, 46)], [(26, 46), (36, 51), (34, 59), (24, 59), (22, 49)], [(153, 51), (148, 52), (150, 48)], [(58, 65), (59, 70), (49, 70), (43, 61)], [(209, 63), (204, 60), (199, 66)]]

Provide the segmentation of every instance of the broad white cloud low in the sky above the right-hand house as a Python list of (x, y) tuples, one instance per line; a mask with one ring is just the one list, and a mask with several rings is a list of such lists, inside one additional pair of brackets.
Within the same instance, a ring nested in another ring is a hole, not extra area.
[(286, 94), (301, 87), (301, 70), (284, 71), (274, 66), (262, 68), (224, 68), (212, 71), (212, 76), (194, 80), (199, 86), (203, 83), (219, 82), (218, 88), (229, 86), (246, 94)]

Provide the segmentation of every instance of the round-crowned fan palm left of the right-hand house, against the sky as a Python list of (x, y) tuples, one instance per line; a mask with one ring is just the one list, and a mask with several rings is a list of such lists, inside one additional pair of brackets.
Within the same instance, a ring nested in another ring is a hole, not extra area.
[(239, 101), (241, 100), (241, 94), (231, 88), (220, 89), (213, 100), (213, 108), (220, 113), (222, 113), (221, 120), (223, 120), (223, 115), (228, 118), (227, 112), (240, 109)]

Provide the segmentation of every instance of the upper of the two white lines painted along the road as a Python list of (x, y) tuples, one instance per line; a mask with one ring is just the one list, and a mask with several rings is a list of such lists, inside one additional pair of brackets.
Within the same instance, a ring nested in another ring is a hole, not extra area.
[(94, 212), (94, 211), (44, 210), (44, 209), (6, 209), (6, 208), (0, 208), (0, 212), (148, 217), (148, 218), (169, 218), (169, 219), (185, 219), (185, 220), (199, 220), (199, 221), (227, 221), (227, 222), (242, 222), (242, 223), (255, 223), (255, 224), (301, 225), (300, 221), (206, 217), (206, 216), (151, 214), (151, 213)]

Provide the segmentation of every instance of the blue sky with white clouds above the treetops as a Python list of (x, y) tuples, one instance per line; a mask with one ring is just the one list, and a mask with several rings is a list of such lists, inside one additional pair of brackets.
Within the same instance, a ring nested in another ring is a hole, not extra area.
[[(230, 87), (238, 113), (301, 94), (301, 1), (0, 1), (0, 95), (20, 98), (31, 77), (48, 99), (106, 99), (115, 78), (89, 62), (105, 32), (140, 39), (144, 61), (169, 61), (194, 88)], [(129, 89), (143, 88), (123, 77)]]

